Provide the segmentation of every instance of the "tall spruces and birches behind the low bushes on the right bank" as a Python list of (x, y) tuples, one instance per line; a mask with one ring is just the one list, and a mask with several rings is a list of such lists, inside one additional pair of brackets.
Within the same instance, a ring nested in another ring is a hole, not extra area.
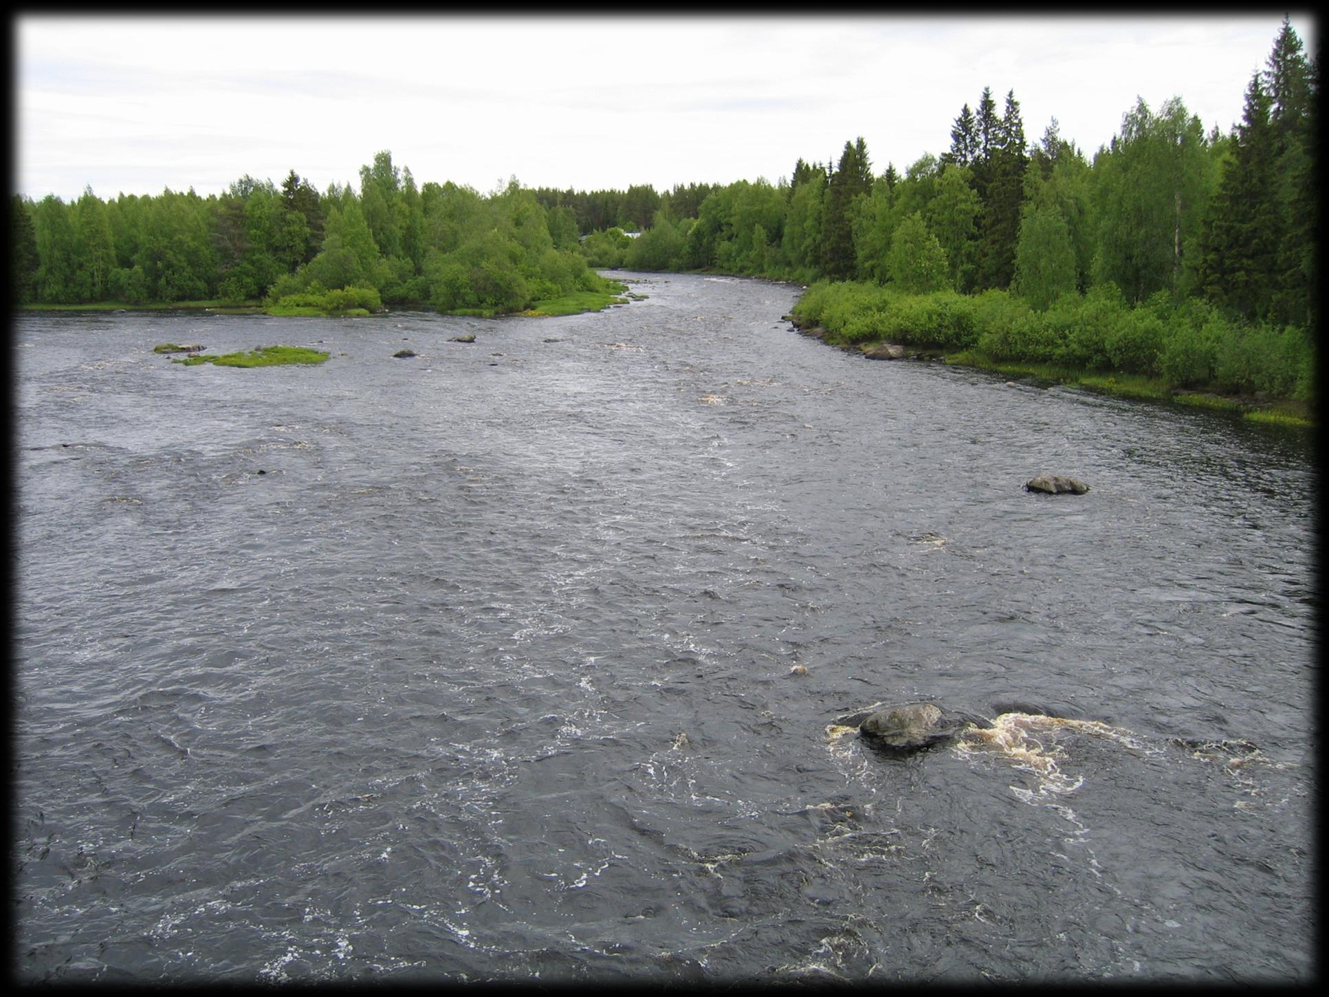
[(1158, 110), (1138, 100), (1088, 158), (1055, 118), (1027, 142), (1014, 92), (998, 112), (985, 88), (956, 117), (950, 149), (924, 154), (904, 177), (893, 165), (874, 174), (863, 138), (845, 142), (833, 165), (799, 160), (789, 181), (715, 190), (695, 219), (662, 209), (623, 262), (998, 288), (1039, 307), (1111, 282), (1132, 304), (1167, 291), (1306, 326), (1317, 94), (1317, 64), (1286, 21), (1227, 134), (1205, 133), (1180, 97)]

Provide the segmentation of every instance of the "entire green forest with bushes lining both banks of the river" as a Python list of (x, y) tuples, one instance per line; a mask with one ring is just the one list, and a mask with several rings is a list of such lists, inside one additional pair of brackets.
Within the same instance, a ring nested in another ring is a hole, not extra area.
[(1313, 400), (1318, 64), (1286, 19), (1227, 133), (1140, 98), (1088, 157), (985, 88), (950, 138), (904, 174), (860, 137), (776, 183), (662, 193), (417, 186), (380, 152), (359, 190), (292, 169), (209, 197), (15, 195), (12, 295), (490, 315), (603, 292), (597, 270), (716, 271), (808, 284), (795, 316), (833, 343)]

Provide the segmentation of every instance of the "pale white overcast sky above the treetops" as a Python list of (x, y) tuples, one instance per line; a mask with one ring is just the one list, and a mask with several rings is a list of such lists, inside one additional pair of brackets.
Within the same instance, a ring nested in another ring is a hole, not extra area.
[[(243, 174), (359, 189), (389, 150), (416, 183), (488, 193), (788, 177), (863, 136), (874, 173), (950, 148), (990, 86), (1025, 134), (1087, 154), (1143, 97), (1241, 117), (1286, 8), (1217, 15), (15, 19), (13, 183), (33, 199)], [(1317, 20), (1292, 12), (1308, 52)]]

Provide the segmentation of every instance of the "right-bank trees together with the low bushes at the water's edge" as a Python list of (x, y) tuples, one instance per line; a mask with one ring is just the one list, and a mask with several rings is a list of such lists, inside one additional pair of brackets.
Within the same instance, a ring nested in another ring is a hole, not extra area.
[(860, 137), (788, 181), (716, 189), (695, 218), (662, 207), (610, 265), (812, 284), (801, 315), (845, 343), (1310, 399), (1318, 65), (1286, 19), (1228, 133), (1138, 98), (1090, 158), (1055, 118), (1029, 142), (1014, 92), (998, 110), (985, 88), (950, 137), (902, 177)]

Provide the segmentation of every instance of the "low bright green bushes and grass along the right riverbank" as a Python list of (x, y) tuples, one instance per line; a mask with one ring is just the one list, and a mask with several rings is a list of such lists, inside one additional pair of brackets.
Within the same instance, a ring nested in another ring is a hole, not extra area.
[(851, 352), (921, 356), (1252, 421), (1316, 425), (1314, 354), (1305, 332), (1237, 326), (1195, 302), (1131, 308), (1106, 287), (1039, 312), (1003, 291), (902, 295), (843, 282), (811, 286), (787, 318)]

